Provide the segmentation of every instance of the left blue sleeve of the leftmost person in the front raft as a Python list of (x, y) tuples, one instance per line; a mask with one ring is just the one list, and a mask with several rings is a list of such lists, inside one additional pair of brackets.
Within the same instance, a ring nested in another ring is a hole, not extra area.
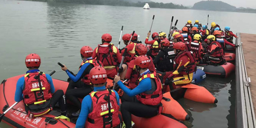
[(23, 100), (23, 86), (24, 86), (24, 81), (25, 81), (25, 78), (24, 77), (21, 77), (18, 81), (17, 81), (17, 84), (16, 84), (16, 91), (15, 91), (15, 96), (14, 96), (14, 100), (16, 102), (19, 102), (21, 100)]

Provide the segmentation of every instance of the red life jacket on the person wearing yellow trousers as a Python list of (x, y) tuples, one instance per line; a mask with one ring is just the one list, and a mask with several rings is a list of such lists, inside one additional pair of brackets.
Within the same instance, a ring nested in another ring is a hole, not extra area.
[(191, 55), (191, 52), (187, 52), (187, 51), (184, 51), (183, 53), (181, 53), (180, 55), (175, 57), (175, 59), (174, 59), (175, 70), (178, 68), (180, 58), (183, 56), (188, 56), (188, 59), (189, 59), (188, 61), (190, 61), (190, 62), (186, 67), (184, 67), (181, 70), (180, 75), (189, 75), (190, 73), (195, 72), (196, 71), (196, 63), (195, 63), (196, 59), (194, 56)]

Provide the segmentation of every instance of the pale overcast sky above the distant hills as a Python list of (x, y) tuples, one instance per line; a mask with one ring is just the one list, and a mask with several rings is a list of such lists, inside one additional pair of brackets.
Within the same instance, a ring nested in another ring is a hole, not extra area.
[[(174, 3), (174, 4), (183, 4), (185, 6), (193, 6), (196, 2), (202, 1), (202, 0), (151, 0), (154, 2), (163, 2), (163, 3)], [(233, 5), (237, 8), (239, 7), (249, 7), (249, 8), (256, 8), (256, 0), (219, 0), (223, 1), (225, 3), (228, 3), (230, 5)]]

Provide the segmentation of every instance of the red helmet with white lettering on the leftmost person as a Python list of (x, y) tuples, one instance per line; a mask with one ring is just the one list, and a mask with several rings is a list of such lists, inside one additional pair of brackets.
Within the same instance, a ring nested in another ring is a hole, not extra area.
[(36, 53), (31, 53), (26, 56), (25, 64), (27, 67), (40, 67), (41, 58)]

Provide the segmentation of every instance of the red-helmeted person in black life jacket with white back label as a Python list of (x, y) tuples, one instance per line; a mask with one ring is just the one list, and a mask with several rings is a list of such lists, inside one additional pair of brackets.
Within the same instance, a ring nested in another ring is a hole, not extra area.
[(160, 72), (169, 72), (173, 70), (175, 53), (172, 48), (169, 48), (169, 45), (169, 40), (162, 40), (160, 43), (161, 49), (154, 60), (155, 67)]

